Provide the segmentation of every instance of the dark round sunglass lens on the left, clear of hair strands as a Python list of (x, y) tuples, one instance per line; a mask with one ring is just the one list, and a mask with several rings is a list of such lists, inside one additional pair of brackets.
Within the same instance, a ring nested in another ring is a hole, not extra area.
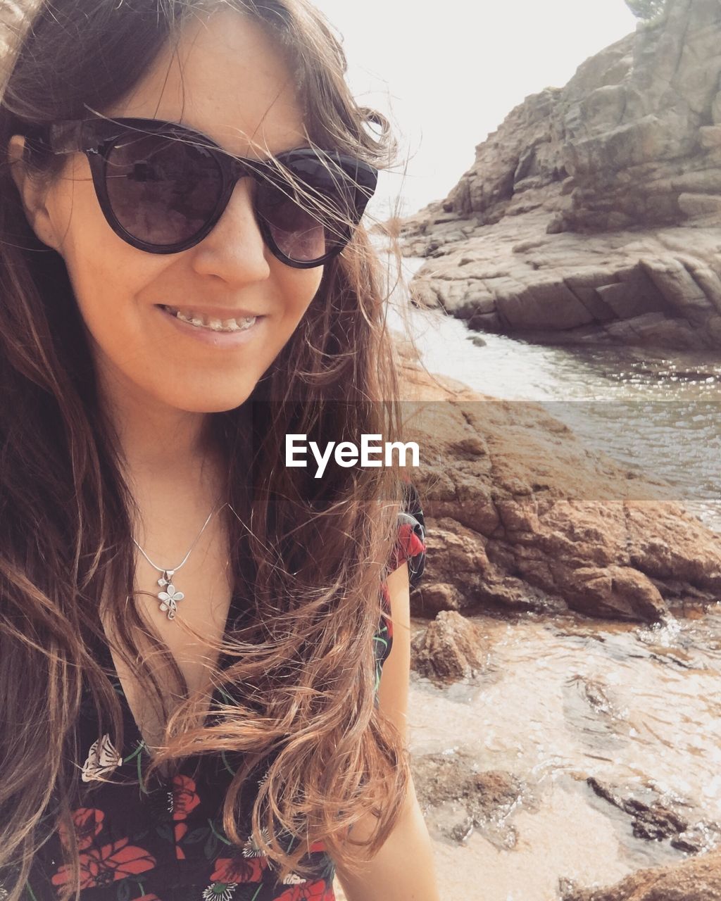
[(213, 214), (223, 177), (202, 147), (163, 134), (132, 134), (107, 156), (108, 198), (118, 222), (159, 247), (187, 241)]

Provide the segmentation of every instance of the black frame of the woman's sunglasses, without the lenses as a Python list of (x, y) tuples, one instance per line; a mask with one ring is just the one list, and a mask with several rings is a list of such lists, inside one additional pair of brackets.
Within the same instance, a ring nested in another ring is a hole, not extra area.
[[(131, 132), (140, 133), (156, 133), (160, 132), (164, 136), (178, 138), (181, 141), (187, 141), (196, 147), (202, 147), (214, 159), (215, 164), (221, 172), (223, 185), (214, 205), (213, 212), (208, 216), (203, 226), (185, 241), (176, 244), (152, 244), (148, 241), (141, 241), (127, 232), (121, 223), (118, 222), (113, 206), (107, 192), (105, 181), (107, 172), (107, 158), (110, 150), (119, 138), (127, 136)], [(90, 172), (93, 178), (93, 185), (96, 189), (96, 196), (106, 222), (113, 229), (118, 237), (122, 238), (132, 247), (138, 250), (145, 250), (148, 253), (179, 253), (181, 250), (188, 250), (195, 247), (200, 241), (212, 231), (215, 223), (224, 214), (225, 207), (228, 205), (233, 188), (239, 178), (251, 177), (256, 181), (270, 181), (276, 185), (280, 184), (288, 192), (292, 191), (292, 183), (284, 176), (283, 170), (289, 170), (294, 177), (298, 172), (298, 180), (304, 181), (302, 176), (302, 168), (307, 166), (308, 161), (320, 161), (327, 171), (332, 173), (333, 181), (342, 183), (344, 190), (351, 196), (352, 203), (349, 210), (348, 222), (338, 223), (338, 234), (334, 236), (334, 245), (323, 257), (313, 260), (297, 260), (287, 256), (278, 248), (278, 244), (273, 239), (269, 224), (262, 215), (258, 214), (254, 209), (256, 221), (260, 228), (263, 240), (269, 247), (273, 255), (293, 268), (315, 268), (322, 266), (329, 259), (337, 256), (348, 241), (351, 240), (352, 230), (355, 225), (360, 223), (360, 219), (365, 212), (366, 205), (373, 196), (378, 184), (378, 169), (371, 166), (365, 160), (343, 154), (335, 150), (316, 150), (311, 147), (301, 147), (295, 150), (287, 150), (278, 153), (277, 156), (269, 159), (243, 159), (233, 157), (227, 151), (223, 150), (219, 144), (209, 138), (202, 132), (196, 132), (194, 129), (188, 128), (180, 123), (169, 122), (162, 119), (141, 119), (141, 118), (119, 118), (119, 119), (73, 119), (63, 120), (61, 122), (49, 123), (40, 132), (37, 137), (32, 137), (31, 141), (40, 145), (39, 149), (50, 150), (52, 153), (85, 153), (90, 165)], [(313, 190), (313, 186), (309, 186)], [(314, 193), (317, 194), (317, 191)], [(292, 194), (290, 195), (292, 196)]]

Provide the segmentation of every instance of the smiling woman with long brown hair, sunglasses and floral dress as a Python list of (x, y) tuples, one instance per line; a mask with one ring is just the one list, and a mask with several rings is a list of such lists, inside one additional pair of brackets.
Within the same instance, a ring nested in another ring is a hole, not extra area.
[(43, 3), (5, 59), (3, 897), (432, 901), (415, 493), (284, 459), (397, 437), (384, 121), (305, 0)]

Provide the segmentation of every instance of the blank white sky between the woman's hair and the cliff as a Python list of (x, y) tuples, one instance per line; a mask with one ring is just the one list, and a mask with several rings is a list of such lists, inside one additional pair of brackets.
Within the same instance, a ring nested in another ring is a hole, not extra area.
[(525, 96), (563, 86), (598, 50), (634, 31), (624, 0), (314, 0), (338, 32), (355, 95), (389, 114), (409, 155), (383, 176), (369, 212), (406, 214), (446, 196), (476, 144)]

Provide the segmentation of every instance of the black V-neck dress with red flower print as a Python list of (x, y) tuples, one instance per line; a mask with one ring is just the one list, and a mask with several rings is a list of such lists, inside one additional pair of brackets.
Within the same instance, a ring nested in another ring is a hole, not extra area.
[[(424, 568), (424, 516), (415, 488), (410, 483), (406, 488), (390, 570), (407, 561), (415, 587)], [(383, 612), (374, 636), (376, 690), (393, 642), (385, 582), (380, 596)], [(114, 673), (106, 647), (101, 656)], [(222, 809), (236, 769), (232, 755), (185, 760), (169, 780), (143, 785), (142, 765), (149, 752), (116, 673), (113, 682), (123, 709), (123, 750), (114, 748), (109, 735), (96, 738), (96, 711), (89, 697), (78, 725), (81, 747), (87, 750), (87, 758), (78, 763), (78, 778), (88, 789), (80, 795), (84, 804), (73, 811), (82, 901), (334, 901), (333, 860), (323, 842), (311, 845), (303, 859), (313, 866), (315, 878), (291, 874), (280, 883), (252, 838), (242, 848), (229, 841)], [(98, 777), (113, 782), (103, 783)], [(247, 792), (257, 784), (257, 779), (246, 780), (242, 810), (250, 812), (253, 797)], [(251, 835), (250, 813), (244, 825)], [(33, 860), (25, 892), (28, 901), (58, 901), (59, 889), (70, 881), (70, 869), (61, 860), (61, 842), (68, 842), (68, 836), (59, 830)], [(288, 842), (286, 847), (296, 844)], [(0, 901), (4, 896), (0, 886)]]

